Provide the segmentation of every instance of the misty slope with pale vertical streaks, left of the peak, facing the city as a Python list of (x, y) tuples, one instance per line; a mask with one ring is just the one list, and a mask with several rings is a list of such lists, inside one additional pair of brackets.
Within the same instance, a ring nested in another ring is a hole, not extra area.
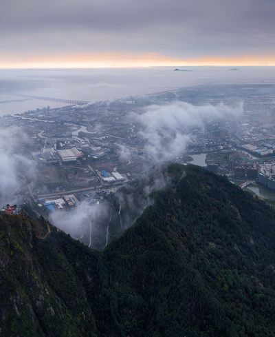
[[(166, 176), (162, 166), (155, 165), (140, 176), (138, 181), (131, 181), (118, 192), (109, 194), (100, 206), (94, 205), (94, 212), (91, 212), (93, 216), (87, 216), (81, 225), (69, 226), (69, 234), (76, 239), (80, 238), (80, 241), (93, 249), (104, 249), (113, 239), (120, 237), (125, 229), (131, 227), (146, 207), (153, 203), (151, 193), (162, 189), (169, 181), (170, 177)], [(74, 210), (78, 212), (78, 208)], [(85, 210), (78, 213), (80, 218), (83, 212)], [(62, 228), (66, 231), (66, 227), (64, 225)]]

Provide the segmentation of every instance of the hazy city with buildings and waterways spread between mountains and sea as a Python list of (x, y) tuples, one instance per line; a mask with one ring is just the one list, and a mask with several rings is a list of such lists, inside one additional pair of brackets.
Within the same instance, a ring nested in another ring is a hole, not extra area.
[(192, 134), (190, 142), (173, 161), (192, 164), (203, 154), (208, 170), (225, 174), (241, 187), (254, 183), (275, 191), (274, 98), (272, 83), (217, 83), (63, 108), (46, 106), (5, 115), (0, 127), (19, 127), (22, 140), (14, 151), (32, 161), (38, 172), (32, 181), (25, 178), (23, 202), (47, 217), (69, 212), (83, 201), (98, 204), (146, 173), (154, 161), (146, 152), (137, 116), (150, 105), (176, 101), (242, 104), (243, 114), (184, 130)]

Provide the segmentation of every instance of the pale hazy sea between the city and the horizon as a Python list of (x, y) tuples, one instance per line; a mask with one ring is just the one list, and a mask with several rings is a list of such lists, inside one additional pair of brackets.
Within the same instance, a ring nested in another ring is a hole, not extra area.
[(274, 67), (175, 68), (0, 70), (0, 116), (68, 105), (27, 96), (94, 102), (207, 83), (275, 83)]

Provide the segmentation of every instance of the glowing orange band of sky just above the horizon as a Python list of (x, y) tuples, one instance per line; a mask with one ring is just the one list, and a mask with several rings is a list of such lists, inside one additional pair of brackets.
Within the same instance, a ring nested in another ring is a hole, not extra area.
[(157, 66), (275, 66), (275, 56), (200, 57), (181, 59), (165, 57), (156, 52), (120, 54), (39, 55), (36, 57), (0, 57), (0, 68), (146, 68)]

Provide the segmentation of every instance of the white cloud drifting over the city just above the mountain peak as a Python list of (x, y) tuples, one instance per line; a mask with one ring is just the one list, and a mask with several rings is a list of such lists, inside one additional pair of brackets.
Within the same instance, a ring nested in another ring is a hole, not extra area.
[(168, 161), (184, 153), (192, 128), (201, 128), (226, 116), (240, 116), (242, 104), (232, 108), (218, 105), (192, 105), (176, 102), (171, 105), (151, 105), (137, 117), (144, 125), (140, 135), (148, 156), (155, 162)]

